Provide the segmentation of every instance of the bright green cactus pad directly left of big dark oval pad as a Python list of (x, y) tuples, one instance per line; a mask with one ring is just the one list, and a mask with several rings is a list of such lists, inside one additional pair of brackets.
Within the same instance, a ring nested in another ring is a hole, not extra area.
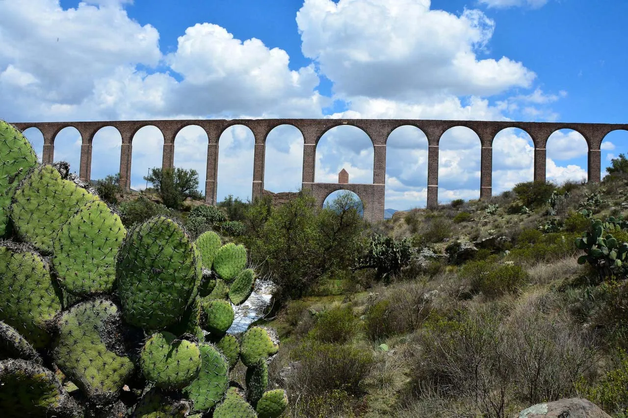
[(57, 233), (52, 265), (63, 289), (86, 296), (111, 291), (126, 229), (103, 201), (87, 203)]

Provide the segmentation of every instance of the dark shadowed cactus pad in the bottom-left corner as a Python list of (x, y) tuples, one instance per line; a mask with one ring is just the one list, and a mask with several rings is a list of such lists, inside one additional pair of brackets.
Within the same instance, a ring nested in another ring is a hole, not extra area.
[(63, 390), (55, 374), (26, 360), (0, 362), (0, 410), (3, 417), (78, 417), (82, 410)]

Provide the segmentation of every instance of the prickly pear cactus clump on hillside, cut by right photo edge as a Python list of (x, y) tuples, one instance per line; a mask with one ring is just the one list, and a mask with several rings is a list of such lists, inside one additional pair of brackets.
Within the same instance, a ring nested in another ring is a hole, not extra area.
[(600, 279), (617, 274), (625, 275), (628, 267), (628, 243), (619, 242), (610, 232), (624, 230), (624, 221), (607, 218), (591, 221), (590, 230), (576, 238), (578, 249), (585, 255), (578, 257), (578, 264), (590, 264), (600, 275)]

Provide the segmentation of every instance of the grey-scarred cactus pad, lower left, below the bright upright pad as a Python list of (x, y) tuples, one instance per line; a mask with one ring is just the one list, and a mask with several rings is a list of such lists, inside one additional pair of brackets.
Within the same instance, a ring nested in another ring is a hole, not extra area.
[(64, 312), (59, 322), (53, 351), (58, 367), (95, 404), (114, 401), (134, 371), (119, 338), (116, 305), (107, 299), (85, 301)]

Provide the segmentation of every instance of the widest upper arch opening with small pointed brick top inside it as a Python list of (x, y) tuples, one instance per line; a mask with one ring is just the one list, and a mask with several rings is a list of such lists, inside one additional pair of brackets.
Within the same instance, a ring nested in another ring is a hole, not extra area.
[(359, 127), (342, 125), (325, 132), (316, 147), (315, 181), (338, 183), (345, 169), (349, 183), (373, 183), (373, 142)]

